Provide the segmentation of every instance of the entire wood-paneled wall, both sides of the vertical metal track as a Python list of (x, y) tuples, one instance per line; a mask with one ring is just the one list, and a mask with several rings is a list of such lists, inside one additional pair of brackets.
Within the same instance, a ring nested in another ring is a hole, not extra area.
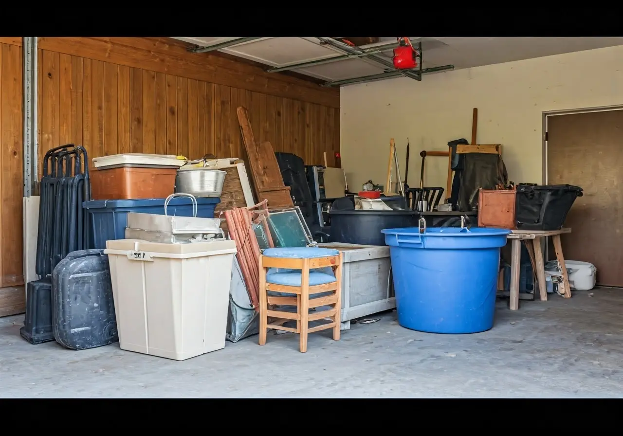
[[(90, 158), (167, 153), (246, 158), (235, 109), (255, 137), (307, 164), (340, 150), (340, 92), (168, 38), (39, 38), (40, 158), (65, 143)], [(0, 37), (0, 316), (24, 310), (22, 39)]]

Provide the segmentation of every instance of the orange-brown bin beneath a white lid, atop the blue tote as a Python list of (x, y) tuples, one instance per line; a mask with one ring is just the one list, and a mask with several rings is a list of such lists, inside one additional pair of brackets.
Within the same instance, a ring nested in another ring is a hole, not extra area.
[(119, 168), (90, 171), (93, 200), (166, 198), (175, 189), (176, 168)]

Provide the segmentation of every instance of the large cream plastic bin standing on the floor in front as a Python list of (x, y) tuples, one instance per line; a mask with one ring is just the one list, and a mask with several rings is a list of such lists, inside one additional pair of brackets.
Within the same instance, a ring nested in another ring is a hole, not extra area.
[(178, 361), (225, 347), (235, 241), (108, 240), (121, 349)]

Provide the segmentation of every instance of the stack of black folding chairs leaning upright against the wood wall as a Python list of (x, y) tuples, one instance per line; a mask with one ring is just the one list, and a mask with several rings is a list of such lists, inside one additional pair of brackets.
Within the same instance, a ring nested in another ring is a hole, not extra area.
[(89, 217), (82, 208), (90, 199), (87, 150), (67, 144), (47, 151), (40, 182), (35, 265), (39, 277), (50, 277), (70, 252), (90, 248)]

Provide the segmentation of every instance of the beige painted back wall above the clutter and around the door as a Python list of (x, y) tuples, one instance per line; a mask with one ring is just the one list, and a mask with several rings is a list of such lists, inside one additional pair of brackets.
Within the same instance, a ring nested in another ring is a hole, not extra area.
[[(543, 112), (611, 105), (623, 105), (623, 45), (425, 75), (422, 82), (351, 85), (341, 89), (342, 166), (350, 191), (368, 179), (384, 184), (393, 137), (404, 178), (408, 137), (408, 182), (419, 186), (420, 151), (470, 141), (478, 108), (477, 142), (503, 145), (510, 180), (540, 183)], [(426, 158), (426, 186), (445, 188), (446, 176), (447, 158)]]

